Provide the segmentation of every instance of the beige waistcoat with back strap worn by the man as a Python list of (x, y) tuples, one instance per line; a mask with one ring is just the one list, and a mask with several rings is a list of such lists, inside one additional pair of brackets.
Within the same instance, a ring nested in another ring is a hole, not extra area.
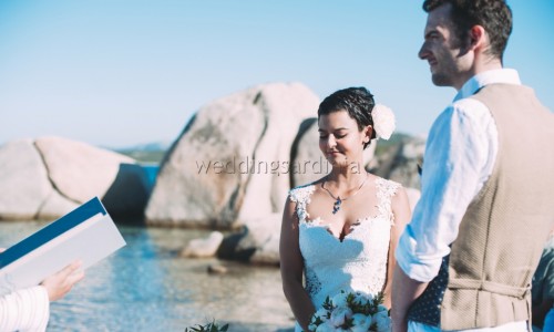
[(474, 96), (499, 131), (491, 177), (452, 243), (441, 329), (531, 320), (531, 280), (554, 227), (554, 115), (533, 90), (492, 84)]

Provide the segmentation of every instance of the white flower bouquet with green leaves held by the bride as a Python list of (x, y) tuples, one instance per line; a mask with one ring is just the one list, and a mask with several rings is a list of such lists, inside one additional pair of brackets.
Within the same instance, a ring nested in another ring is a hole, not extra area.
[(341, 291), (331, 299), (327, 297), (311, 317), (309, 331), (390, 332), (392, 321), (382, 302), (381, 292), (371, 297), (362, 292)]

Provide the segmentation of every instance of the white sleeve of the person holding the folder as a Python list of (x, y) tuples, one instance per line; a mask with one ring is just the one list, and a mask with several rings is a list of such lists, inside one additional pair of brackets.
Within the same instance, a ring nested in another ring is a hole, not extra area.
[(50, 317), (47, 289), (37, 286), (0, 297), (1, 332), (43, 332)]

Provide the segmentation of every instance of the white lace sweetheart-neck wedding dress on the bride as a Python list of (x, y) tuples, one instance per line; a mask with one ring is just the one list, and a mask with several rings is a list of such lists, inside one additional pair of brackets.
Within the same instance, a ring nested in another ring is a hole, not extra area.
[[(341, 290), (377, 294), (387, 277), (390, 228), (393, 225), (391, 197), (398, 183), (376, 180), (378, 215), (359, 219), (350, 234), (340, 241), (331, 235), (319, 217), (311, 219), (306, 208), (315, 190), (314, 185), (290, 190), (299, 219), (299, 245), (305, 266), (305, 289), (316, 310), (327, 295)], [(302, 331), (297, 324), (295, 331)]]

